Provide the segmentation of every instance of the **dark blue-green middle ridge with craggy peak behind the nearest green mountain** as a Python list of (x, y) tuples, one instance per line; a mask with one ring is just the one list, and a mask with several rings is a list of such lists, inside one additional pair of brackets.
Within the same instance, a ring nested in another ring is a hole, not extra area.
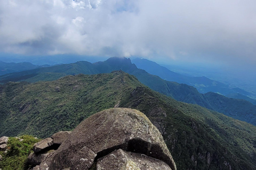
[[(145, 70), (138, 69), (131, 63), (130, 58), (112, 57), (104, 62), (89, 63), (85, 61), (73, 64), (62, 64), (57, 66), (39, 68), (35, 70), (10, 73), (0, 76), (0, 82), (9, 81), (51, 81), (57, 80), (65, 75), (97, 74), (110, 73), (114, 70), (122, 70), (135, 77), (149, 88), (170, 96), (175, 100), (190, 104), (197, 104), (208, 109), (223, 113), (238, 120), (249, 122), (256, 125), (256, 106), (249, 101), (241, 103), (239, 99), (230, 99), (222, 95), (200, 94), (196, 88), (187, 84), (165, 81), (156, 75), (147, 73)], [(239, 109), (234, 109), (234, 106)]]

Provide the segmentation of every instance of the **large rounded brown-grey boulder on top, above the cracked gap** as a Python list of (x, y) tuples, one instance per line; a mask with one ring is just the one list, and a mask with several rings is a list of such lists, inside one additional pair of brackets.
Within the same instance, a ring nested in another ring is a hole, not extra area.
[[(116, 149), (144, 154), (176, 169), (161, 133), (146, 115), (128, 108), (107, 109), (84, 120), (53, 154), (49, 169), (88, 169), (91, 159)], [(86, 164), (80, 164), (82, 158), (87, 159)]]

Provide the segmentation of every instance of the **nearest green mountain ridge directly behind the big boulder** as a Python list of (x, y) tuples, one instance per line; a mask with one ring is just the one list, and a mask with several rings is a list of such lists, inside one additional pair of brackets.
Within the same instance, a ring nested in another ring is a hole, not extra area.
[(255, 126), (159, 94), (123, 71), (1, 85), (0, 136), (50, 137), (111, 107), (146, 114), (177, 169), (256, 169)]

